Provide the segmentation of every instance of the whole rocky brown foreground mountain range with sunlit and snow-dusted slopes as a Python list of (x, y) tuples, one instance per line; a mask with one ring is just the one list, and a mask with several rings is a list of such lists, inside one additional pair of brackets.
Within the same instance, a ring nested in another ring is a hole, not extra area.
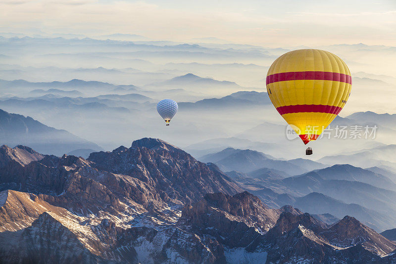
[(158, 139), (87, 159), (0, 148), (2, 263), (396, 262), (354, 217), (325, 218), (270, 208)]

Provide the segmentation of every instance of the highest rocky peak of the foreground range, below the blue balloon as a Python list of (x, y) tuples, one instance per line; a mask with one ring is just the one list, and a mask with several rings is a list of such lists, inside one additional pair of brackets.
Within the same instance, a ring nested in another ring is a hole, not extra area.
[(161, 190), (163, 199), (177, 204), (198, 201), (206, 193), (242, 191), (222, 171), (160, 139), (135, 140), (129, 149), (91, 153), (88, 160), (99, 170), (138, 178)]

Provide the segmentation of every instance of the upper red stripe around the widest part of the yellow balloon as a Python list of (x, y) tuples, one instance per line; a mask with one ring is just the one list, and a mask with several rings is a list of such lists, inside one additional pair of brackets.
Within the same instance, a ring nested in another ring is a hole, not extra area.
[(267, 76), (266, 83), (276, 83), (296, 80), (325, 80), (352, 84), (350, 75), (330, 71), (291, 71), (275, 73)]

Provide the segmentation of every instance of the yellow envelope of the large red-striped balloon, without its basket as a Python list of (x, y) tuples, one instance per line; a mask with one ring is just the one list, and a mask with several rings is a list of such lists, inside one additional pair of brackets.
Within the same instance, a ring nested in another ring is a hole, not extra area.
[(304, 144), (319, 137), (347, 103), (352, 78), (333, 53), (306, 49), (278, 57), (267, 73), (272, 104)]

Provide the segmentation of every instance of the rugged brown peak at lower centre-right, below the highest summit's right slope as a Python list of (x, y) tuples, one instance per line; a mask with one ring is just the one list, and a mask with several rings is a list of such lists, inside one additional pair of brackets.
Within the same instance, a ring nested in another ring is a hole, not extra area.
[(178, 225), (231, 247), (246, 247), (273, 227), (278, 216), (279, 210), (267, 208), (247, 192), (212, 193), (193, 206), (186, 205)]

